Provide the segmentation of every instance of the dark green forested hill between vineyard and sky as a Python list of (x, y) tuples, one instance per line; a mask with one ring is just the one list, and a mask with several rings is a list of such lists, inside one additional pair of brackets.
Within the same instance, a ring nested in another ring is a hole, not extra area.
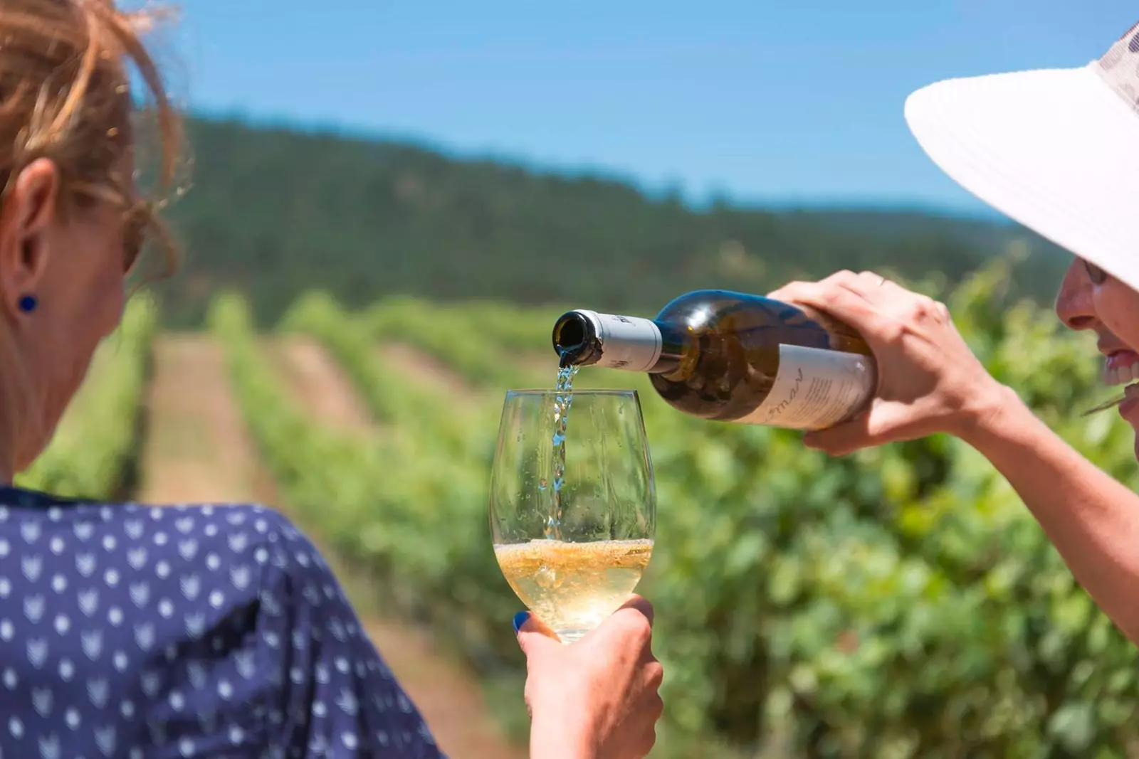
[(194, 187), (172, 213), (186, 267), (167, 319), (221, 286), (271, 322), (303, 290), (345, 305), (400, 292), (655, 312), (699, 287), (768, 291), (842, 267), (956, 279), (1024, 240), (1026, 292), (1065, 256), (1010, 225), (898, 212), (696, 211), (630, 184), (459, 160), (420, 147), (194, 121)]

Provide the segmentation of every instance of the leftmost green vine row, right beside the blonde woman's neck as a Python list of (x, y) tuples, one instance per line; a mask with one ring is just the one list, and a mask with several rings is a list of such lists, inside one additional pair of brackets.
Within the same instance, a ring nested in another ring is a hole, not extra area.
[(131, 298), (122, 324), (96, 352), (88, 378), (51, 443), (16, 485), (66, 497), (114, 498), (126, 485), (139, 443), (155, 303)]

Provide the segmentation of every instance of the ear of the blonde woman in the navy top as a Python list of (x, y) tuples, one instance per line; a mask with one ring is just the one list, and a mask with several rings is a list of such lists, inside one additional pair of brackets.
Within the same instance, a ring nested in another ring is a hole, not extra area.
[(50, 230), (59, 199), (59, 170), (48, 158), (24, 167), (0, 204), (0, 310), (23, 313), (50, 258)]

